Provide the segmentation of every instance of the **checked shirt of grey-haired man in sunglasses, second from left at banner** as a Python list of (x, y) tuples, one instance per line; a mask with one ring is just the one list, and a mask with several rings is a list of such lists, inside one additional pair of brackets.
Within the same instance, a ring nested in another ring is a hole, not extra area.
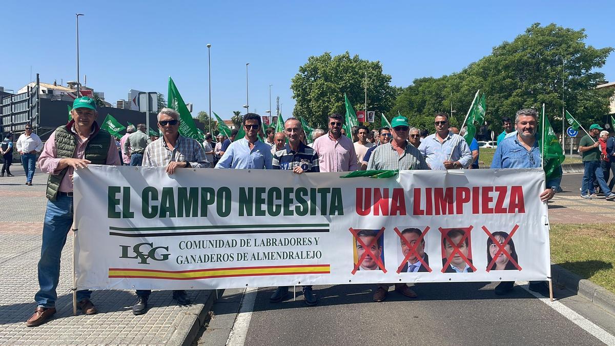
[(192, 168), (212, 167), (199, 142), (183, 135), (177, 138), (173, 151), (167, 147), (164, 137), (154, 140), (145, 148), (143, 167), (166, 167), (172, 161), (187, 162)]

